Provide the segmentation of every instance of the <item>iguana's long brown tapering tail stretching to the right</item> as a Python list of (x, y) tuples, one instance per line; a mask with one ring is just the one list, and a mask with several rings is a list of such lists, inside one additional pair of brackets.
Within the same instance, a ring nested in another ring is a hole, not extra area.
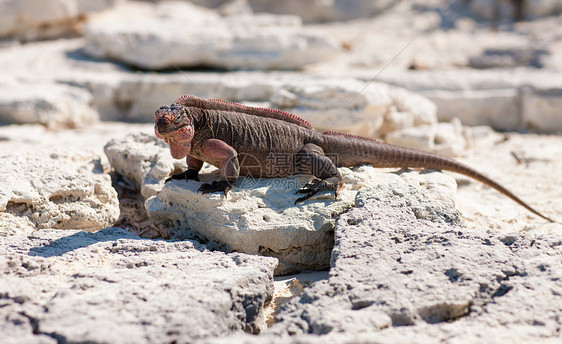
[(555, 222), (525, 203), (496, 181), (452, 158), (355, 135), (337, 132), (324, 132), (323, 134), (326, 140), (323, 148), (327, 154), (337, 154), (338, 166), (370, 164), (374, 167), (428, 168), (463, 174), (496, 189), (533, 214), (550, 222)]

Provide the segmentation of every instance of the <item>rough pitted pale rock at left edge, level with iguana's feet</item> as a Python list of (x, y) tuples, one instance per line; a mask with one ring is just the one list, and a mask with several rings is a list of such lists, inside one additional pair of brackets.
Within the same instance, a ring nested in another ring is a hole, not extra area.
[(0, 235), (35, 229), (97, 231), (119, 217), (117, 193), (88, 152), (0, 154)]

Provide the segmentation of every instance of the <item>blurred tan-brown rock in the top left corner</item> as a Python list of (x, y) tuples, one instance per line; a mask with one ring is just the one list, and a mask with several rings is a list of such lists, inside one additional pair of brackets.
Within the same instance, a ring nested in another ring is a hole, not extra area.
[(80, 32), (84, 17), (112, 7), (117, 0), (3, 0), (0, 38), (20, 41), (56, 38)]

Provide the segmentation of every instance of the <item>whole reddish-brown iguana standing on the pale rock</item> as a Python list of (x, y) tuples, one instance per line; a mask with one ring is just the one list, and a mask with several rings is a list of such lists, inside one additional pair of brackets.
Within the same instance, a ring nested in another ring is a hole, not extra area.
[(202, 184), (198, 192), (203, 194), (226, 195), (240, 175), (258, 178), (313, 175), (316, 178), (297, 191), (303, 196), (296, 204), (320, 191), (334, 191), (337, 197), (343, 184), (337, 167), (369, 164), (427, 168), (474, 178), (554, 222), (500, 184), (454, 159), (356, 135), (319, 132), (306, 120), (280, 110), (183, 96), (170, 106), (162, 106), (155, 115), (156, 136), (168, 143), (173, 158), (186, 157), (188, 166), (166, 182), (198, 180), (203, 162), (219, 168), (220, 180)]

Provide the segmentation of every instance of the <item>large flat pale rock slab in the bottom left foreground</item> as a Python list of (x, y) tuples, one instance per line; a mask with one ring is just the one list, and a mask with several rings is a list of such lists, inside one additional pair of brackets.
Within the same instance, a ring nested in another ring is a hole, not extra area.
[(192, 343), (265, 326), (276, 260), (198, 243), (40, 230), (0, 242), (7, 343)]

